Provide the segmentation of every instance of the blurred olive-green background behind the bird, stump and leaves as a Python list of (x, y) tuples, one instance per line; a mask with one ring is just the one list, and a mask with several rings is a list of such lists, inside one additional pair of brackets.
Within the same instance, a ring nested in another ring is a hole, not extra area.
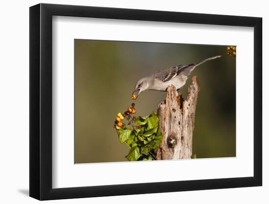
[[(222, 55), (197, 67), (181, 89), (186, 97), (191, 77), (200, 82), (193, 153), (197, 158), (235, 157), (236, 58), (226, 45), (74, 40), (75, 163), (127, 161), (129, 149), (118, 141), (113, 123), (134, 102), (141, 77), (180, 64)], [(157, 111), (166, 92), (145, 91), (134, 102), (136, 115)]]

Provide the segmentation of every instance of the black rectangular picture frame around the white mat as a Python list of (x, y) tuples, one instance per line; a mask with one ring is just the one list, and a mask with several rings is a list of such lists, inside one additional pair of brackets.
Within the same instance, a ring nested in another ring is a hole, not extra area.
[[(254, 176), (52, 188), (52, 16), (254, 27)], [(42, 3), (30, 7), (29, 27), (30, 197), (54, 200), (262, 185), (262, 18)]]

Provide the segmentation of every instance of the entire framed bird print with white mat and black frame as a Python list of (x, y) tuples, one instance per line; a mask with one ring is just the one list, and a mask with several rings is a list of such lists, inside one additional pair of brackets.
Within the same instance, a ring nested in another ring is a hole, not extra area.
[(30, 196), (262, 185), (262, 19), (30, 7)]

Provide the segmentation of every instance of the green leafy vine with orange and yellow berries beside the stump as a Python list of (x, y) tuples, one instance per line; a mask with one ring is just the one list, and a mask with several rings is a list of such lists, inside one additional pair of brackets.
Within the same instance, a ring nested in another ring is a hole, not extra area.
[[(134, 108), (128, 108), (125, 113), (118, 113), (114, 128), (118, 133), (119, 142), (124, 143), (130, 149), (126, 159), (129, 161), (155, 160), (155, 150), (162, 141), (162, 134), (158, 130), (159, 118), (153, 112), (145, 117), (133, 115)], [(127, 123), (123, 120), (126, 119)]]

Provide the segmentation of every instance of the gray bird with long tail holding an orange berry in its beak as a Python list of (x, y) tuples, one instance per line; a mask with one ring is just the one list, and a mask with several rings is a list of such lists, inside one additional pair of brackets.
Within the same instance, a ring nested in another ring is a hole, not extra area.
[(134, 87), (133, 95), (135, 94), (137, 97), (141, 92), (146, 90), (166, 91), (167, 87), (170, 85), (174, 85), (176, 89), (179, 90), (185, 85), (188, 76), (194, 68), (219, 57), (221, 57), (221, 55), (209, 57), (198, 63), (178, 65), (158, 70), (149, 76), (139, 79)]

